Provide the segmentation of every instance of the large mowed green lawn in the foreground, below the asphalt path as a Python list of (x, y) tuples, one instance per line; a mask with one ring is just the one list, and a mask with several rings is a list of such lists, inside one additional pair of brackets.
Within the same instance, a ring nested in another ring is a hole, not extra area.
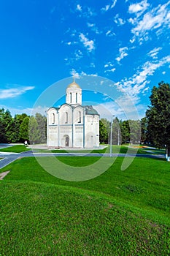
[[(58, 157), (87, 166), (98, 157)], [(46, 158), (50, 161), (50, 157)], [(88, 181), (63, 181), (34, 157), (1, 169), (0, 255), (169, 255), (170, 164), (123, 158)]]

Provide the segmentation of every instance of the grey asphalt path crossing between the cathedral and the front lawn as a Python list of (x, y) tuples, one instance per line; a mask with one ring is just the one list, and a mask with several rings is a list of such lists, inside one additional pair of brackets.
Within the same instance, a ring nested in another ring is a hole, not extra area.
[[(0, 152), (0, 169), (14, 162), (16, 159), (23, 157), (134, 157), (134, 154), (98, 154), (98, 153), (34, 153), (26, 151), (22, 153), (4, 153)], [(147, 158), (165, 158), (161, 154), (136, 154), (135, 157)]]

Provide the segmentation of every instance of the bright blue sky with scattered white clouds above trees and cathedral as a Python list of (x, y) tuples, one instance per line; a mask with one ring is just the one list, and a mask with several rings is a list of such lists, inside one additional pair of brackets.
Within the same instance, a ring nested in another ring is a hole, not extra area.
[[(142, 118), (152, 87), (170, 83), (169, 30), (170, 1), (1, 1), (0, 108), (30, 114), (50, 85), (88, 75), (112, 80)], [(90, 89), (111, 109), (114, 89), (101, 86)]]

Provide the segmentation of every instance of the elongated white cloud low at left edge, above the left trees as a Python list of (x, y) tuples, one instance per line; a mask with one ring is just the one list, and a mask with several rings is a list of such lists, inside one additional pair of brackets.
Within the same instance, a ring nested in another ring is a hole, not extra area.
[(17, 86), (17, 88), (0, 89), (0, 99), (15, 98), (22, 94), (25, 94), (26, 91), (30, 91), (34, 89), (34, 86), (19, 86), (19, 85), (15, 85), (15, 86)]

